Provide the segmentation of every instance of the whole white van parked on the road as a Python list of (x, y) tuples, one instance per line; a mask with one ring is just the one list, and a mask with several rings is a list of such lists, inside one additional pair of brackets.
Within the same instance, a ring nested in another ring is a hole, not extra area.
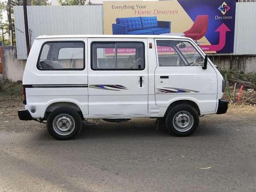
[(195, 132), (199, 116), (226, 113), (225, 83), (190, 38), (161, 35), (39, 36), (23, 77), (20, 120), (47, 121), (72, 139), (88, 119), (156, 118), (170, 133)]

